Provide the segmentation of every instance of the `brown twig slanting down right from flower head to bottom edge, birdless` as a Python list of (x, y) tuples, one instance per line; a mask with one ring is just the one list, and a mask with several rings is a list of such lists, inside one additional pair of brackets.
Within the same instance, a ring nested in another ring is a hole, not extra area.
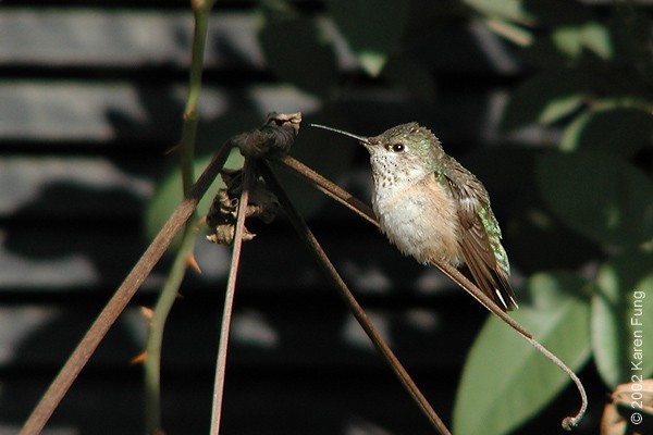
[(402, 365), (397, 357), (394, 355), (390, 346), (387, 346), (381, 334), (379, 334), (379, 332), (374, 327), (373, 323), (367, 316), (365, 310), (360, 307), (352, 291), (347, 288), (347, 285), (342, 279), (342, 277), (326, 257), (326, 253), (322, 250), (322, 247), (306, 225), (306, 222), (304, 222), (301, 215), (293, 206), (285, 190), (279, 183), (276, 176), (270, 170), (270, 166), (267, 164), (267, 162), (260, 161), (258, 167), (272, 191), (274, 191), (274, 194), (279, 197), (279, 201), (284, 208), (288, 219), (291, 220), (291, 223), (295, 227), (295, 231), (308, 246), (309, 250), (313, 253), (321, 268), (331, 277), (333, 284), (338, 289), (341, 296), (345, 300), (345, 303), (347, 304), (347, 307), (349, 308), (360, 326), (364, 328), (368, 337), (372, 340), (373, 345), (377, 347), (379, 352), (381, 352), (381, 355), (385, 358), (386, 362), (390, 364), (392, 370), (395, 372), (395, 374), (402, 382), (402, 385), (404, 385), (404, 387), (408, 390), (412, 399), (429, 418), (433, 426), (442, 435), (451, 435), (451, 432), (447, 430), (446, 425), (442, 422), (438, 413), (433, 410), (433, 408), (431, 407), (424, 395), (419, 390), (418, 386), (415, 384), (406, 369), (404, 369), (404, 366)]

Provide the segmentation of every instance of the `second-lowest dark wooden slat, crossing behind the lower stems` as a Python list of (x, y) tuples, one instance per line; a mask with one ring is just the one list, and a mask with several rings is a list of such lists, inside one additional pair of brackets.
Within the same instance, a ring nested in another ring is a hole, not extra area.
[[(246, 291), (246, 290), (242, 290)], [(173, 371), (207, 370), (215, 359), (222, 298), (208, 300), (187, 291), (176, 301), (167, 323), (164, 361)], [(330, 297), (269, 299), (251, 306), (237, 294), (230, 359), (239, 370), (263, 371), (310, 368), (365, 368), (379, 358), (368, 337), (334, 291)], [(471, 299), (452, 310), (453, 300), (438, 308), (368, 308), (389, 344), (405, 363), (416, 368), (446, 368), (459, 363), (484, 314)], [(316, 303), (318, 302), (318, 303)], [(44, 370), (63, 363), (97, 313), (100, 300), (78, 307), (12, 304), (0, 307), (0, 370)], [(128, 308), (94, 356), (89, 370), (126, 371), (145, 348), (146, 319)], [(448, 332), (457, 331), (452, 335)], [(528, 346), (525, 343), (525, 346)]]

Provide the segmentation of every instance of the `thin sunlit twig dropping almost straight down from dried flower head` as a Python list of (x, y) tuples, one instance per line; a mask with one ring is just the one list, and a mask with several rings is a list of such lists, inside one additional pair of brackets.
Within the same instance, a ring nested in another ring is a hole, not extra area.
[(243, 234), (245, 229), (245, 214), (249, 202), (249, 189), (252, 185), (254, 170), (251, 169), (251, 159), (246, 158), (243, 166), (243, 191), (238, 202), (238, 214), (236, 217), (236, 228), (234, 233), (234, 247), (232, 253), (231, 268), (226, 282), (226, 293), (224, 295), (224, 308), (220, 326), (220, 343), (218, 345), (218, 358), (215, 361), (215, 381), (213, 384), (213, 407), (211, 412), (211, 435), (220, 433), (220, 419), (222, 417), (222, 399), (224, 396), (224, 378), (226, 375), (226, 353), (229, 349), (229, 334), (231, 331), (231, 319), (234, 304), (234, 295), (236, 293), (236, 279), (238, 276), (238, 265), (241, 263), (241, 248), (243, 246)]

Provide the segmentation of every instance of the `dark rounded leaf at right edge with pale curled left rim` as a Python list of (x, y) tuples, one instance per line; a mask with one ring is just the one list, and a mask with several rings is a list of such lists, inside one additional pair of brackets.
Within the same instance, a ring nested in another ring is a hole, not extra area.
[[(614, 105), (613, 105), (614, 104)], [(649, 146), (653, 136), (653, 116), (645, 109), (611, 105), (583, 113), (565, 129), (564, 150), (615, 152), (630, 157)]]

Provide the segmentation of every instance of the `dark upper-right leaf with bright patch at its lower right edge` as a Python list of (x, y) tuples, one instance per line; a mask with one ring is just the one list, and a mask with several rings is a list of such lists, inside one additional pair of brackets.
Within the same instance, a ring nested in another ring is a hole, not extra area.
[(501, 128), (506, 132), (532, 123), (553, 123), (580, 108), (587, 79), (574, 70), (546, 70), (519, 86), (506, 105)]

